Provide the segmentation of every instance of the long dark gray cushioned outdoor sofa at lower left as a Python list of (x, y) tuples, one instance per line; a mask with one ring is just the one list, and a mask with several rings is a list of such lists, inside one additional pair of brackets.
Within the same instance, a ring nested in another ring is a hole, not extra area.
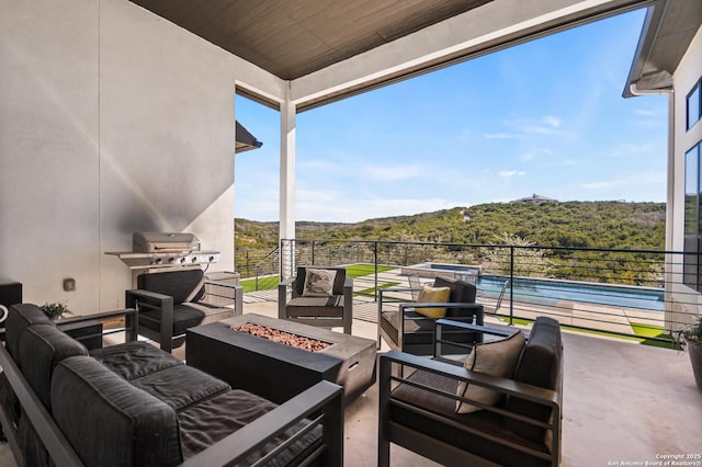
[(89, 352), (35, 305), (11, 307), (5, 329), (0, 421), (19, 465), (343, 462), (340, 386), (276, 406), (145, 342)]

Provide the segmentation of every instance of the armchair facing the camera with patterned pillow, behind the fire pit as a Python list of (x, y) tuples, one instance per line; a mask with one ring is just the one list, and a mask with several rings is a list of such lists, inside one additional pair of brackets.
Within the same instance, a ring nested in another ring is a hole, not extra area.
[[(290, 298), (288, 298), (290, 297)], [(299, 266), (278, 286), (278, 317), (351, 333), (353, 278), (344, 267)]]

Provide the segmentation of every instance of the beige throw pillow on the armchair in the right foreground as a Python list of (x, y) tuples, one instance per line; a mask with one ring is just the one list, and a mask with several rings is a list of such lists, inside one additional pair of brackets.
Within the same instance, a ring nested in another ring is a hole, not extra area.
[[(507, 339), (496, 342), (477, 344), (465, 361), (465, 368), (472, 372), (484, 373), (501, 378), (511, 378), (514, 375), (517, 363), (524, 349), (524, 333), (519, 331)], [(484, 388), (483, 386), (458, 383), (456, 390), (458, 397), (475, 400), (476, 402), (494, 406), (502, 399), (502, 394)], [(456, 400), (457, 413), (472, 413), (480, 410), (479, 407)]]

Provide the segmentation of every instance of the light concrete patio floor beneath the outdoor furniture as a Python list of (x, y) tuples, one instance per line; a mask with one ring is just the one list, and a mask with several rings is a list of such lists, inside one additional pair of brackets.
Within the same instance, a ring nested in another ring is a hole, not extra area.
[[(276, 304), (247, 303), (244, 312), (275, 317)], [(353, 334), (375, 339), (376, 324), (354, 320)], [(645, 465), (702, 454), (702, 390), (686, 353), (573, 332), (564, 332), (564, 352), (563, 466)], [(184, 357), (184, 348), (173, 353)], [(344, 466), (376, 465), (376, 436), (373, 386), (347, 407)], [(437, 465), (399, 446), (390, 453), (394, 466)], [(702, 465), (694, 462), (689, 465)], [(0, 466), (14, 465), (7, 443), (0, 444)]]

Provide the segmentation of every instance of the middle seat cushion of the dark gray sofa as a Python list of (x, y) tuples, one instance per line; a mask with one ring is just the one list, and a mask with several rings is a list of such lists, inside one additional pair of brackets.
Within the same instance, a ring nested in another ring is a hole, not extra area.
[(225, 381), (186, 365), (171, 366), (131, 383), (176, 411), (229, 389)]

